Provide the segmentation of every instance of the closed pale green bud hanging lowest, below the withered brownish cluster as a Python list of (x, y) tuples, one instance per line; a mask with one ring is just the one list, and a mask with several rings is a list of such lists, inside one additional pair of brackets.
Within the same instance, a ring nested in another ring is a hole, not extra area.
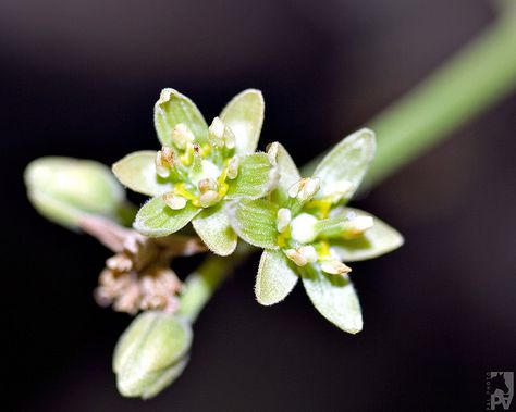
[(186, 366), (192, 337), (191, 325), (179, 316), (157, 311), (138, 315), (114, 349), (120, 394), (144, 399), (158, 395)]

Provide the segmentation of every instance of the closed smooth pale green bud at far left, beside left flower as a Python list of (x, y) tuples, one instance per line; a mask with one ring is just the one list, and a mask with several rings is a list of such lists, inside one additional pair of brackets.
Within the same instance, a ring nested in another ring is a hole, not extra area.
[(41, 158), (25, 170), (33, 205), (48, 220), (76, 228), (82, 216), (115, 217), (125, 202), (122, 186), (103, 164), (72, 158)]

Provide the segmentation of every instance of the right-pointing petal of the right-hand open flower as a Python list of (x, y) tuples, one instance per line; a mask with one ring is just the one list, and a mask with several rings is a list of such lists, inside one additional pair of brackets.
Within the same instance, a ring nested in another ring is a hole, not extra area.
[(344, 262), (377, 258), (403, 245), (403, 236), (378, 217), (359, 209), (339, 208), (339, 210), (342, 210), (342, 213), (355, 212), (358, 216), (371, 216), (374, 220), (374, 226), (357, 239), (332, 239), (331, 251), (336, 253)]

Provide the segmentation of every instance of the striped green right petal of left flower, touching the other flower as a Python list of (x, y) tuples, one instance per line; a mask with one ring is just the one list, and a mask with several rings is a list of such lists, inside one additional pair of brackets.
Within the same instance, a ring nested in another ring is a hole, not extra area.
[(226, 199), (258, 199), (266, 196), (278, 182), (278, 168), (272, 166), (266, 153), (246, 154), (239, 158), (238, 175), (229, 180)]

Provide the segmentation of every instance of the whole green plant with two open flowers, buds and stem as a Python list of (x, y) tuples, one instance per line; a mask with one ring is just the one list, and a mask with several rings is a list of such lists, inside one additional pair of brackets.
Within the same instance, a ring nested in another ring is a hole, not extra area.
[[(280, 302), (300, 278), (325, 319), (359, 332), (360, 305), (346, 263), (390, 252), (403, 238), (348, 208), (348, 200), (369, 166), (366, 183), (378, 183), (504, 96), (516, 83), (516, 61), (506, 59), (515, 38), (508, 9), (479, 40), (373, 120), (381, 137), (376, 158), (374, 133), (365, 128), (300, 173), (279, 142), (255, 152), (265, 111), (258, 90), (237, 95), (208, 126), (188, 98), (164, 89), (155, 107), (161, 149), (131, 153), (113, 165), (123, 185), (151, 197), (138, 211), (99, 163), (42, 158), (29, 164), (25, 182), (36, 209), (114, 253), (100, 274), (97, 301), (142, 312), (115, 348), (120, 392), (149, 398), (180, 376), (192, 324), (255, 248), (263, 249), (255, 286), (259, 303)], [(213, 254), (181, 282), (171, 260), (207, 251)]]

